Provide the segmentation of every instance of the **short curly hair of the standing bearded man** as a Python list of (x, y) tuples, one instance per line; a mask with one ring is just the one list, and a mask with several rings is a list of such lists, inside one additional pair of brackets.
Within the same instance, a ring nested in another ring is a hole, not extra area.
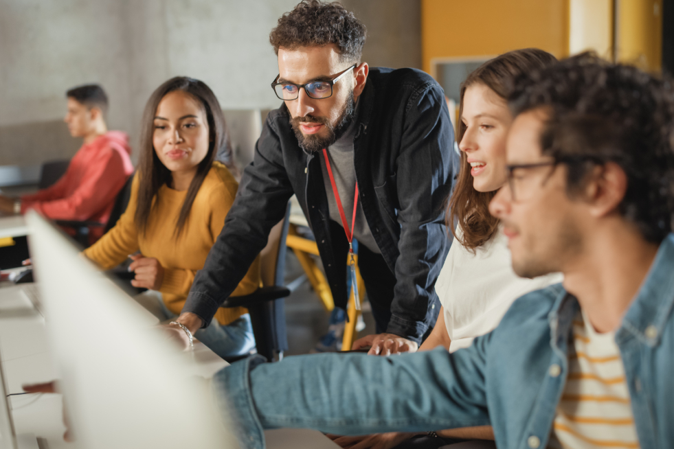
[(336, 1), (302, 0), (283, 14), (269, 34), (278, 55), (279, 47), (297, 49), (335, 44), (345, 62), (360, 62), (367, 30), (365, 25)]

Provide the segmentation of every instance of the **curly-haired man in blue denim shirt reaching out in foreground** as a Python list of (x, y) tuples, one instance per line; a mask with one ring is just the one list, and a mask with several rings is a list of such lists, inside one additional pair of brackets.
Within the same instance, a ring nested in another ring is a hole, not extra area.
[[(214, 394), (243, 447), (262, 448), (263, 428), (363, 435), (488, 424), (499, 448), (674, 447), (674, 89), (587, 54), (516, 86), (509, 182), (491, 211), (515, 272), (561, 271), (563, 285), (521, 297), (497, 329), (454, 354), (253, 358), (219, 371)], [(576, 376), (570, 367), (592, 359), (578, 348), (607, 335), (624, 375)], [(592, 395), (606, 384), (626, 398)], [(582, 402), (566, 407), (574, 398), (630, 416), (581, 416)], [(593, 422), (602, 424), (583, 424)]]

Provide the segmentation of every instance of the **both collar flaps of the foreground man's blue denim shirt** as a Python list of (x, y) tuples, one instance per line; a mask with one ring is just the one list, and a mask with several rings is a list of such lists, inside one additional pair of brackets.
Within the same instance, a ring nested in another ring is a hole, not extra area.
[[(616, 343), (636, 336), (647, 345), (657, 345), (674, 307), (674, 234), (660, 244), (653, 266), (627, 309)], [(573, 318), (579, 309), (578, 300), (559, 284), (557, 299), (548, 314), (550, 345), (559, 355), (566, 353)]]

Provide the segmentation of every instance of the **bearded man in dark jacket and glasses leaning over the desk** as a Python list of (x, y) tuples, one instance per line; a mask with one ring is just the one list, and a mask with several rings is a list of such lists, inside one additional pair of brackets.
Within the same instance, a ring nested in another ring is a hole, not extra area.
[(212, 319), (293, 194), (335, 305), (345, 308), (349, 245), (326, 176), (326, 148), (349, 231), (356, 182), (359, 189), (359, 266), (383, 333), (370, 343), (414, 350), (438, 316), (434, 286), (450, 244), (443, 205), (458, 157), (442, 88), (422, 71), (360, 62), (365, 27), (338, 3), (300, 3), (279, 19), (270, 41), (279, 65), (273, 87), (285, 102), (267, 117), (178, 321), (194, 332)]

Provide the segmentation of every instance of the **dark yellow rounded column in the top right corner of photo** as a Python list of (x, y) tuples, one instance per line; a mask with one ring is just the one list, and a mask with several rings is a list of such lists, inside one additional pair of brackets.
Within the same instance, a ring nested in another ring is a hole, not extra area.
[(618, 60), (662, 69), (662, 0), (616, 0), (616, 8)]

